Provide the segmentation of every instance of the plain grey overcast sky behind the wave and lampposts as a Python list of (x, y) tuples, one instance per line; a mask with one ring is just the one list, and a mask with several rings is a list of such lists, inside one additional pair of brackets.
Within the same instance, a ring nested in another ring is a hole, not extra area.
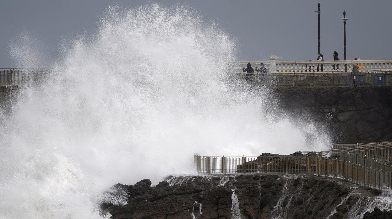
[(207, 22), (217, 22), (236, 39), (240, 61), (316, 60), (317, 4), (321, 4), (321, 53), (343, 55), (343, 11), (346, 25), (347, 60), (390, 60), (392, 0), (0, 0), (0, 68), (14, 67), (10, 42), (23, 31), (34, 34), (45, 45), (45, 53), (56, 57), (60, 40), (96, 30), (109, 5), (138, 7), (159, 2), (171, 6), (190, 5)]

